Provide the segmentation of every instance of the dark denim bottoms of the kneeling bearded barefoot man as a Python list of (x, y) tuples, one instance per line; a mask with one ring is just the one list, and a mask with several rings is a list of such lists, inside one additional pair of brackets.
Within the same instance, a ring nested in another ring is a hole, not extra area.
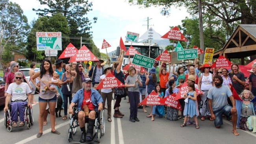
[(222, 114), (225, 114), (226, 116), (231, 118), (231, 116), (232, 116), (232, 114), (230, 113), (231, 109), (232, 109), (232, 107), (230, 105), (224, 105), (224, 107), (222, 107), (221, 109), (219, 109), (217, 111), (213, 111), (213, 113), (215, 114), (215, 117), (216, 117), (214, 120), (215, 126), (223, 125)]

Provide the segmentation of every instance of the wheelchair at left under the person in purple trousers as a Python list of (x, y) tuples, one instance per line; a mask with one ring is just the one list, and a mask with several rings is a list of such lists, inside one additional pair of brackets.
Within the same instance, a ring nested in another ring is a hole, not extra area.
[[(19, 112), (18, 112), (18, 116), (19, 116)], [(27, 104), (25, 107), (25, 113), (24, 113), (24, 124), (27, 124), (28, 129), (31, 129), (33, 122), (34, 122), (33, 111), (28, 107), (28, 104)], [(11, 132), (13, 130), (12, 120), (11, 120), (11, 104), (8, 104), (8, 110), (6, 111), (6, 113), (4, 113), (4, 125), (6, 126), (7, 131)]]

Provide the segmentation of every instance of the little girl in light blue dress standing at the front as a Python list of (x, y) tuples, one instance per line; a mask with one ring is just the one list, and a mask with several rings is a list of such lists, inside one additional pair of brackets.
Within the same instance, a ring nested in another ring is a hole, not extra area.
[(196, 107), (196, 101), (197, 101), (197, 92), (195, 91), (195, 85), (194, 83), (189, 83), (188, 84), (188, 89), (189, 91), (184, 94), (185, 98), (185, 109), (184, 109), (184, 122), (183, 124), (180, 125), (180, 127), (185, 127), (187, 117), (188, 116), (193, 116), (196, 122), (196, 129), (199, 129), (198, 126), (198, 121), (197, 121), (197, 116), (199, 115), (199, 111)]

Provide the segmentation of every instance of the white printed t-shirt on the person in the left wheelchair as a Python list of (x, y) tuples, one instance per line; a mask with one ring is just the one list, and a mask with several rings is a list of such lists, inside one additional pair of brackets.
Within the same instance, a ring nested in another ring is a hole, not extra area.
[(22, 82), (17, 85), (15, 82), (11, 83), (6, 91), (11, 94), (11, 100), (26, 100), (28, 98), (27, 94), (31, 93), (31, 89), (27, 83)]

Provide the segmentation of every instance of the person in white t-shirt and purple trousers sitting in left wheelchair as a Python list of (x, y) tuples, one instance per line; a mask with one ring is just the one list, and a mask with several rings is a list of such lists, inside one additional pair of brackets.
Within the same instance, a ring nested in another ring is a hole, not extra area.
[(12, 127), (18, 126), (18, 112), (20, 117), (19, 126), (24, 126), (25, 107), (28, 105), (31, 109), (32, 105), (30, 95), (31, 89), (27, 83), (23, 82), (23, 74), (21, 72), (15, 72), (14, 82), (9, 85), (6, 92), (7, 96), (4, 112), (6, 113), (8, 104), (11, 99), (11, 121), (13, 122)]

